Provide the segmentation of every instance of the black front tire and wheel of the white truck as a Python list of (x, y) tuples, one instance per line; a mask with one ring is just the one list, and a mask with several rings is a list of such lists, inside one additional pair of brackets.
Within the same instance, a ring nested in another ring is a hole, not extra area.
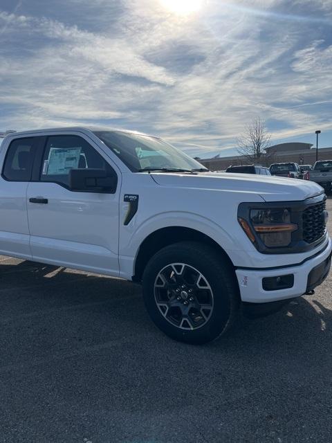
[[(174, 272), (171, 264), (176, 264), (175, 269), (172, 266)], [(183, 264), (186, 267), (181, 267)], [(187, 284), (187, 280), (197, 278), (196, 286), (190, 281), (194, 289), (182, 291), (176, 287), (178, 279)], [(158, 251), (145, 268), (142, 289), (145, 306), (156, 326), (167, 336), (185, 343), (203, 344), (221, 336), (230, 328), (239, 310), (234, 269), (212, 246), (199, 242), (178, 242)], [(185, 291), (194, 292), (196, 297), (187, 298), (188, 293), (183, 296)], [(180, 304), (185, 300), (187, 304), (183, 307)], [(208, 309), (200, 309), (205, 306)], [(185, 308), (190, 309), (189, 313)]]

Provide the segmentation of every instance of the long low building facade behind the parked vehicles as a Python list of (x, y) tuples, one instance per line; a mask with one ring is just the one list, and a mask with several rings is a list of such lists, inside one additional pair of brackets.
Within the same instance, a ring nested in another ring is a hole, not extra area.
[[(332, 160), (332, 147), (318, 149), (318, 160)], [(295, 162), (299, 165), (313, 165), (316, 161), (316, 148), (311, 143), (280, 143), (266, 148), (259, 163), (269, 166), (272, 163)], [(246, 156), (200, 159), (200, 163), (212, 171), (225, 170), (230, 165), (252, 163)], [(258, 163), (258, 162), (257, 162)]]

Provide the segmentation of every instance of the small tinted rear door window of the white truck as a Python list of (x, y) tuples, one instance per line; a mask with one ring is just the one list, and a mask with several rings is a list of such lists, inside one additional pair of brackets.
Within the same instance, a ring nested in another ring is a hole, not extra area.
[(35, 158), (35, 138), (17, 138), (10, 143), (3, 165), (3, 177), (8, 181), (30, 181)]

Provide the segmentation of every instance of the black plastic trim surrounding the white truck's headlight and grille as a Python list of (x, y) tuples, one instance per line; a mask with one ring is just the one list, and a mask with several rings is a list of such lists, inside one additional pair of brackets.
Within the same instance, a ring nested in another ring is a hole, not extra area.
[[(250, 226), (252, 233), (255, 235), (254, 246), (262, 254), (297, 254), (307, 251), (312, 251), (317, 246), (324, 242), (326, 233), (320, 239), (317, 239), (313, 243), (306, 243), (302, 239), (303, 224), (302, 213), (306, 208), (314, 206), (317, 203), (326, 200), (326, 195), (322, 192), (315, 197), (309, 197), (302, 201), (266, 201), (264, 203), (241, 203), (238, 208), (238, 217), (245, 219)], [(291, 222), (297, 224), (298, 229), (292, 233), (292, 241), (288, 246), (281, 248), (268, 248), (264, 242), (259, 238), (259, 235), (255, 233), (254, 226), (250, 219), (250, 210), (252, 209), (268, 209), (268, 208), (280, 208), (288, 209), (291, 213)]]

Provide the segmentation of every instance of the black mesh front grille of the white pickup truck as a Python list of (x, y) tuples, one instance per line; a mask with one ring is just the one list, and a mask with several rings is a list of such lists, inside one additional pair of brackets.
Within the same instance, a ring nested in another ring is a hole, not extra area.
[(323, 212), (326, 210), (326, 201), (320, 201), (306, 208), (302, 214), (304, 242), (313, 243), (320, 239), (326, 229)]

